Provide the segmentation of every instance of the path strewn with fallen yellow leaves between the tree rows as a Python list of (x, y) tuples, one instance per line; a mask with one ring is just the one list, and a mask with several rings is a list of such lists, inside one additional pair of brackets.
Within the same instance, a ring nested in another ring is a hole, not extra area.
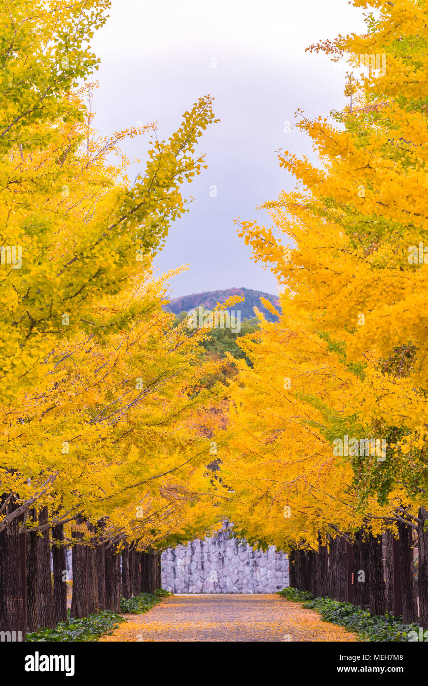
[(101, 641), (355, 641), (278, 595), (175, 595)]

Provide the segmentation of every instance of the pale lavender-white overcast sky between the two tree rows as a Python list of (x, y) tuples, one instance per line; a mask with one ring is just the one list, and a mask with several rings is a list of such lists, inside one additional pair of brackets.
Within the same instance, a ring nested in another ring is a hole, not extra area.
[[(233, 220), (269, 223), (255, 208), (294, 187), (276, 150), (312, 155), (302, 134), (284, 131), (296, 109), (316, 117), (345, 104), (343, 71), (305, 47), (363, 29), (361, 10), (347, 0), (112, 1), (92, 44), (102, 60), (99, 131), (156, 120), (158, 138), (166, 139), (208, 93), (221, 120), (199, 139), (208, 169), (185, 186), (190, 211), (171, 224), (156, 259), (163, 271), (189, 263), (171, 281), (173, 297), (232, 286), (276, 293), (273, 275), (253, 263)], [(147, 137), (123, 146), (143, 161), (146, 149)], [(210, 196), (214, 185), (217, 197)]]

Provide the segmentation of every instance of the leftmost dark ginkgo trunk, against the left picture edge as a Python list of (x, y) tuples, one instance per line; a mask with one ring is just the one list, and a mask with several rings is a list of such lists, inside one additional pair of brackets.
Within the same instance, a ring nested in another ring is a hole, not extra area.
[[(8, 495), (0, 497), (0, 505), (4, 504)], [(3, 512), (10, 514), (17, 507), (13, 501), (9, 501)], [(0, 631), (10, 631), (10, 641), (25, 640), (18, 517), (0, 532)]]

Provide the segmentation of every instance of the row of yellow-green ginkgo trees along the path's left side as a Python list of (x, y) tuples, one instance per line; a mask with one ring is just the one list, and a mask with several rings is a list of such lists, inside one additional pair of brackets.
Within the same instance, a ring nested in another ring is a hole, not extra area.
[[(217, 396), (206, 379), (218, 365), (200, 351), (206, 331), (172, 327), (161, 309), (166, 277), (152, 272), (171, 221), (187, 209), (182, 184), (202, 169), (195, 143), (215, 121), (211, 98), (198, 99), (167, 141), (153, 139), (130, 185), (126, 159), (115, 165), (109, 156), (123, 137), (153, 125), (97, 137), (84, 102), (91, 86), (77, 89), (97, 65), (88, 43), (108, 6), (1, 3), (6, 630), (25, 628), (19, 532), (27, 537), (29, 626), (37, 628), (64, 618), (64, 541), (74, 545), (73, 613), (82, 616), (116, 606), (124, 546), (156, 551), (219, 518), (206, 468)], [(99, 602), (88, 576), (98, 551)]]

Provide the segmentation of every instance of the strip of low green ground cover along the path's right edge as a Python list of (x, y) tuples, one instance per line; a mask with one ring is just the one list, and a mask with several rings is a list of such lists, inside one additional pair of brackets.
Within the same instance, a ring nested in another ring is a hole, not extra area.
[(339, 602), (331, 598), (312, 598), (311, 593), (298, 591), (298, 589), (283, 589), (278, 592), (278, 595), (287, 600), (303, 602), (303, 607), (319, 612), (324, 622), (344, 626), (355, 632), (361, 641), (407, 642), (409, 632), (419, 630), (417, 624), (403, 624), (399, 617), (388, 614), (385, 617), (370, 615), (368, 610), (355, 607), (350, 602)]

